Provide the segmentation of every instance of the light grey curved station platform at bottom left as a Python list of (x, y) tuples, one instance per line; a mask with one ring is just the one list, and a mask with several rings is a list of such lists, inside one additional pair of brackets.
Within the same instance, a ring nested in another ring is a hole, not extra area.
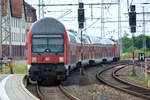
[(24, 75), (8, 75), (0, 83), (0, 100), (39, 100), (23, 85)]

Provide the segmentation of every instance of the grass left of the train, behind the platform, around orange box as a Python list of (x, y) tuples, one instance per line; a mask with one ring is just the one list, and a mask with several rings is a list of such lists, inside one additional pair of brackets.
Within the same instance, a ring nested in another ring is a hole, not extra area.
[[(4, 67), (3, 72), (0, 72), (0, 74), (9, 74), (10, 72), (9, 67)], [(27, 63), (26, 62), (19, 62), (17, 64), (14, 64), (13, 67), (14, 74), (26, 74), (27, 73)]]

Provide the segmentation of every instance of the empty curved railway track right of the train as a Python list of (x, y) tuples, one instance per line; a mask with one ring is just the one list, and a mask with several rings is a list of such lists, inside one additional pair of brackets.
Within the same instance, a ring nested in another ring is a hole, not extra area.
[(128, 66), (127, 63), (121, 64), (119, 66), (114, 65), (110, 68), (107, 68), (103, 71), (98, 72), (96, 77), (99, 81), (101, 81), (113, 88), (116, 88), (121, 91), (127, 92), (129, 94), (150, 100), (150, 95), (149, 95), (150, 90), (149, 89), (139, 87), (135, 84), (123, 81), (120, 78), (118, 78), (118, 75), (116, 74), (116, 72), (126, 66)]

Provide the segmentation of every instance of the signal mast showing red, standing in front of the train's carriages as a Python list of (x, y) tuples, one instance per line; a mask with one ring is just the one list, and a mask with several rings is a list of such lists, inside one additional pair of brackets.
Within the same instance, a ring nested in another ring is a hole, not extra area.
[[(79, 8), (78, 8), (78, 23), (79, 23), (79, 31), (81, 33), (81, 61), (83, 60), (83, 44), (82, 44), (82, 32), (83, 32), (83, 28), (84, 28), (84, 22), (85, 22), (85, 18), (84, 18), (84, 3), (83, 2), (79, 2)], [(83, 68), (82, 68), (82, 64), (80, 65), (80, 74), (83, 74)]]

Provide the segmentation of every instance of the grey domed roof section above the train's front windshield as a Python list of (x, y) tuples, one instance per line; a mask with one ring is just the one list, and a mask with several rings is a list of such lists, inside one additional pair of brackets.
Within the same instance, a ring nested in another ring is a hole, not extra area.
[(32, 25), (32, 34), (62, 34), (64, 25), (51, 17), (42, 18)]

